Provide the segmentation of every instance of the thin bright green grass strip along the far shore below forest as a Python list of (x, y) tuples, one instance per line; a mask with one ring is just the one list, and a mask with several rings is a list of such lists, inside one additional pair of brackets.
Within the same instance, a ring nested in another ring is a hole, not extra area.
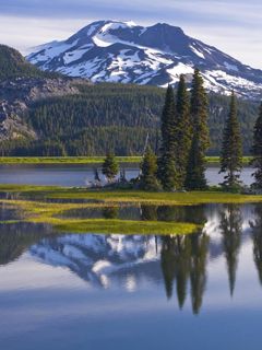
[[(0, 164), (100, 164), (105, 156), (2, 156)], [(141, 156), (117, 156), (120, 163), (140, 163)], [(243, 164), (251, 158), (245, 156)], [(206, 156), (209, 164), (218, 164), (219, 156)]]

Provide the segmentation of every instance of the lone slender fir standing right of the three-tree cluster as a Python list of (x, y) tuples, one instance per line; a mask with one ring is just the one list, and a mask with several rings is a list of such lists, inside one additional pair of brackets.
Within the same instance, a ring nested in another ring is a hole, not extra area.
[(229, 190), (234, 190), (240, 185), (239, 177), (242, 168), (242, 143), (240, 127), (237, 117), (236, 97), (233, 92), (230, 101), (230, 109), (228, 119), (224, 129), (222, 155), (221, 155), (221, 173), (227, 173), (224, 177), (225, 186)]

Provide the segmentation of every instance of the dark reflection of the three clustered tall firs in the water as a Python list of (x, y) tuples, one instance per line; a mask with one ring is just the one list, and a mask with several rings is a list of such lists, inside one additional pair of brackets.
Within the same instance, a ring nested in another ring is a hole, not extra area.
[[(160, 208), (162, 217), (164, 217), (164, 207)], [(194, 208), (194, 212), (190, 213), (187, 213), (187, 209), (179, 208), (180, 218), (183, 220), (190, 215), (191, 220), (194, 218), (194, 222), (204, 223), (206, 221), (203, 207)], [(176, 214), (178, 208), (176, 208)], [(167, 217), (170, 218), (170, 207)], [(182, 308), (190, 280), (194, 314), (198, 314), (201, 308), (205, 290), (209, 241), (210, 238), (203, 230), (191, 235), (162, 237), (160, 258), (167, 298), (172, 296), (172, 288), (176, 283), (178, 305)]]

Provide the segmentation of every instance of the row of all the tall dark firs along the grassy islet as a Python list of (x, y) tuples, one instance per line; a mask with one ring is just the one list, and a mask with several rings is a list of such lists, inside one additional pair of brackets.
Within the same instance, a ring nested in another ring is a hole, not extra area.
[[(205, 178), (205, 154), (210, 147), (207, 126), (207, 95), (199, 69), (194, 70), (190, 93), (184, 77), (180, 77), (176, 96), (169, 85), (162, 114), (162, 140), (155, 154), (150, 145), (142, 163), (141, 187), (145, 190), (163, 188), (203, 190)], [(253, 187), (262, 189), (262, 104), (254, 125)], [(237, 191), (241, 188), (242, 138), (237, 112), (237, 98), (231, 93), (228, 117), (223, 131), (221, 173), (224, 189)]]

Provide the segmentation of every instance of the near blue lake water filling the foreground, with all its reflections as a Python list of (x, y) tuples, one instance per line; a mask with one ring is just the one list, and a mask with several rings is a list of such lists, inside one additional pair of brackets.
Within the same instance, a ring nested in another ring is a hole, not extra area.
[[(0, 224), (0, 349), (260, 349), (262, 205), (142, 206), (111, 215), (204, 226), (152, 236)], [(0, 206), (1, 221), (19, 217)]]

